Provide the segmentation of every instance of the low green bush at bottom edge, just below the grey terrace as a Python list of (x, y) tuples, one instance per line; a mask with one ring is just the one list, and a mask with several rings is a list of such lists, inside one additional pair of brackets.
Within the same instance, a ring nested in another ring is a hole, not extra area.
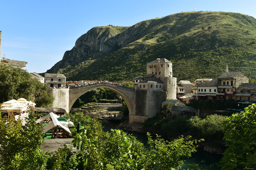
[(47, 160), (47, 170), (76, 170), (79, 160), (76, 153), (71, 151), (71, 146), (65, 145), (64, 148), (59, 148), (52, 155), (49, 154)]

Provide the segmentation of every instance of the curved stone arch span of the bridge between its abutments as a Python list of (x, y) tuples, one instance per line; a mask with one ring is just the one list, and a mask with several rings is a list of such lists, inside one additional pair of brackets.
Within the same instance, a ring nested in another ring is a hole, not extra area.
[(81, 87), (69, 88), (68, 111), (71, 110), (71, 107), (80, 96), (96, 88), (107, 88), (109, 90), (116, 92), (118, 95), (120, 95), (124, 99), (125, 103), (127, 104), (129, 114), (132, 114), (133, 103), (134, 103), (133, 90), (131, 88), (121, 87), (121, 86), (117, 86), (110, 83), (96, 83), (96, 84), (90, 84), (90, 85), (81, 86)]

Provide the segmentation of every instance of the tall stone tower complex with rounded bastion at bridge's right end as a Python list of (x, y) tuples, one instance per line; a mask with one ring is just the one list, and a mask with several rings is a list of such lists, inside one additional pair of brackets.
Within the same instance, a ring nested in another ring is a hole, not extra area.
[(172, 77), (172, 62), (169, 60), (163, 58), (148, 63), (147, 75), (142, 78), (135, 87), (136, 104), (132, 114), (135, 122), (152, 118), (161, 112), (162, 102), (176, 99), (177, 78)]

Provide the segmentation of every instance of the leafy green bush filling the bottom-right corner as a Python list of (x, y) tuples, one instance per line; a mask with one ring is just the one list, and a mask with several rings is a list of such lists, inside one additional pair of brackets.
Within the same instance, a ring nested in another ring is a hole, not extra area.
[(223, 123), (226, 146), (221, 169), (256, 168), (256, 104), (233, 114)]

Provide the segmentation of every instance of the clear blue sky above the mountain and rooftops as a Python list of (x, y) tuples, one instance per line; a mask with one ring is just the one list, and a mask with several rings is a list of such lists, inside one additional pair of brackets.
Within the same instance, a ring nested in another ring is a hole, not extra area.
[(0, 0), (1, 58), (45, 72), (93, 27), (132, 26), (178, 12), (237, 12), (256, 18), (256, 0)]

